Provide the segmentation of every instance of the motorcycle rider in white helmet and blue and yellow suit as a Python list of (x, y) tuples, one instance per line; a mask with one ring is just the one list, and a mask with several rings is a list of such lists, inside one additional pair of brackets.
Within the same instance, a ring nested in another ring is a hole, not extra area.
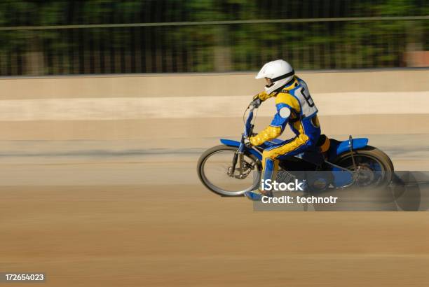
[[(260, 146), (266, 141), (282, 134), (287, 124), (295, 137), (272, 144), (262, 153), (262, 179), (271, 179), (278, 169), (280, 157), (297, 155), (315, 148), (320, 137), (318, 109), (316, 108), (306, 82), (295, 75), (292, 66), (282, 59), (268, 62), (256, 76), (265, 78), (265, 91), (253, 98), (252, 105), (258, 107), (266, 99), (275, 97), (275, 113), (271, 124), (264, 130), (246, 140), (247, 145)], [(245, 195), (251, 200), (261, 200), (263, 195), (272, 196), (259, 188)]]

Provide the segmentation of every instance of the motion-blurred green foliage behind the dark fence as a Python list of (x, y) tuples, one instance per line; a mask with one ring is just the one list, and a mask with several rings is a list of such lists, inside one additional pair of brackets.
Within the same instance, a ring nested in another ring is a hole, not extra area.
[[(1, 27), (428, 14), (429, 3), (422, 0), (0, 1)], [(410, 43), (429, 50), (428, 34), (428, 20), (18, 29), (0, 31), (0, 75), (11, 73), (6, 66), (16, 65), (10, 55), (22, 57), (25, 65), (29, 51), (43, 53), (48, 68), (40, 73), (63, 67), (87, 73), (93, 62), (115, 65), (100, 73), (245, 71), (276, 58), (287, 59), (296, 69), (402, 66)], [(219, 51), (229, 61), (224, 66), (217, 62)], [(134, 66), (139, 68), (124, 64), (138, 59)]]

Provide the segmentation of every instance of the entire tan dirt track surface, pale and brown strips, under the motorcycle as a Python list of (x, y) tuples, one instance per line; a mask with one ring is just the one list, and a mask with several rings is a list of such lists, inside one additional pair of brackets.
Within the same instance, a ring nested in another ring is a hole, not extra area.
[[(372, 143), (402, 169), (428, 170), (426, 137), (383, 135)], [(1, 143), (11, 156), (1, 164), (0, 270), (46, 272), (43, 286), (429, 281), (426, 212), (257, 212), (244, 198), (217, 197), (198, 183), (201, 150), (166, 145), (146, 153), (136, 146), (147, 142), (100, 143)]]

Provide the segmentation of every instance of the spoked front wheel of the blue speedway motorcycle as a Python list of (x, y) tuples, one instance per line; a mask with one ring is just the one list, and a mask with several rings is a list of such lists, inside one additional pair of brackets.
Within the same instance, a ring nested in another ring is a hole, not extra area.
[(214, 146), (200, 156), (197, 173), (200, 181), (213, 193), (222, 196), (241, 196), (254, 190), (261, 181), (261, 162), (245, 152), (233, 168), (237, 148)]

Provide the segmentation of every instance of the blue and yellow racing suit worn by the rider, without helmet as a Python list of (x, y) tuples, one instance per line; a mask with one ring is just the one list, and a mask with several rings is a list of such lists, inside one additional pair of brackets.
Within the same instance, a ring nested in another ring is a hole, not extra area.
[(263, 179), (273, 179), (273, 174), (278, 169), (278, 158), (297, 155), (315, 148), (320, 137), (318, 109), (311, 99), (306, 83), (297, 76), (282, 87), (282, 90), (271, 94), (261, 92), (257, 97), (262, 102), (270, 97), (275, 97), (277, 113), (275, 113), (271, 125), (254, 137), (250, 137), (249, 140), (253, 146), (259, 146), (279, 137), (287, 123), (296, 135), (292, 139), (264, 149), (262, 153)]

